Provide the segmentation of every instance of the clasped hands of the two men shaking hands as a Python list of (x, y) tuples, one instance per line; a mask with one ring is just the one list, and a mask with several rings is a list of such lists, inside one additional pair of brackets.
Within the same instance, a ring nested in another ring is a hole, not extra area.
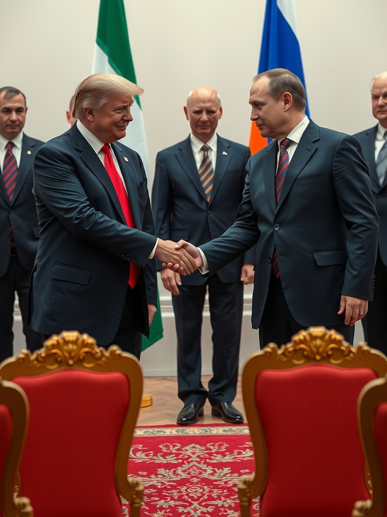
[(198, 248), (185, 240), (173, 242), (158, 239), (155, 255), (163, 263), (163, 267), (179, 275), (190, 275), (203, 267), (203, 259)]

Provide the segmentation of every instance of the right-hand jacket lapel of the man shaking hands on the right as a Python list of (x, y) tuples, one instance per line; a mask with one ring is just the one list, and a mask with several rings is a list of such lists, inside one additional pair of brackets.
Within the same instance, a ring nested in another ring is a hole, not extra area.
[(287, 168), (281, 190), (280, 201), (278, 202), (278, 208), (280, 208), (287, 194), (293, 187), (297, 176), (313, 156), (315, 150), (318, 147), (314, 142), (318, 141), (319, 139), (320, 130), (318, 126), (311, 120), (307, 129), (305, 129), (303, 132), (301, 140), (299, 141), (292, 160)]

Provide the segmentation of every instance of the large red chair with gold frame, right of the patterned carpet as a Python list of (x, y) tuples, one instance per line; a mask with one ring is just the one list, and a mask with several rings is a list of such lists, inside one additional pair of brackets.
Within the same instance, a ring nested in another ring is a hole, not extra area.
[(343, 517), (367, 498), (357, 428), (363, 386), (387, 373), (387, 359), (311, 327), (280, 349), (252, 356), (243, 397), (256, 459), (239, 484), (241, 514), (261, 496), (261, 517)]

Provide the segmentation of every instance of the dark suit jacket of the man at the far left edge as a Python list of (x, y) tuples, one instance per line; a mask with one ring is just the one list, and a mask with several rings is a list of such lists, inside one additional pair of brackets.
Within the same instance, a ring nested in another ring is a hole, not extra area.
[(10, 233), (12, 227), (19, 260), (27, 271), (32, 271), (38, 250), (39, 226), (33, 188), (33, 162), (36, 151), (43, 142), (23, 134), (20, 165), (11, 204), (0, 181), (0, 277), (8, 269)]

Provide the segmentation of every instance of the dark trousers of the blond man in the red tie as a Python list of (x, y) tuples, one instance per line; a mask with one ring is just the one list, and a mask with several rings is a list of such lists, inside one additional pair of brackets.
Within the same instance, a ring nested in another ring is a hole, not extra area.
[[(121, 320), (115, 337), (111, 340), (110, 343), (104, 345), (97, 343), (97, 346), (105, 346), (105, 348), (108, 348), (110, 345), (118, 345), (125, 352), (129, 352), (130, 354), (136, 356), (137, 359), (140, 359), (142, 334), (139, 331), (139, 328), (142, 326), (142, 314), (140, 310), (141, 304), (139, 291), (138, 284), (134, 289), (129, 286), (127, 287)], [(106, 322), (106, 325), (108, 324), (109, 322)], [(82, 329), (76, 330), (78, 330), (80, 333), (83, 332)], [(92, 334), (90, 335), (92, 338), (94, 337)], [(42, 342), (49, 338), (49, 334), (40, 334), (39, 348), (42, 346)]]

